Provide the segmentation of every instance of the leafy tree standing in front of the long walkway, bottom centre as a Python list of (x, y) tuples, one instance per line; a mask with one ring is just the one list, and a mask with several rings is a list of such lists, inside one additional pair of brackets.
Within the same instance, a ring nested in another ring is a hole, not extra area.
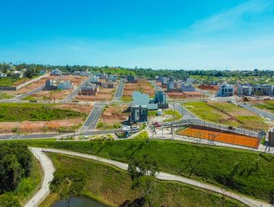
[(141, 159), (129, 162), (127, 171), (132, 178), (132, 188), (138, 188), (149, 206), (161, 206), (164, 187), (155, 181), (158, 172), (157, 162), (145, 154)]

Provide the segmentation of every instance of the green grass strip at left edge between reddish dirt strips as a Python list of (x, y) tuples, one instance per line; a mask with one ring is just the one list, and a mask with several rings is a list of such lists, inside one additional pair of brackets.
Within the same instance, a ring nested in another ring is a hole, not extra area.
[(86, 117), (84, 113), (54, 106), (42, 103), (0, 103), (0, 121), (51, 121)]

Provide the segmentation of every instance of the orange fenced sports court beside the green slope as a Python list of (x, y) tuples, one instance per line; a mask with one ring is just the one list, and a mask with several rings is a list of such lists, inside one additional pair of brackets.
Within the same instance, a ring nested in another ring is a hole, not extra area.
[(252, 148), (258, 148), (260, 144), (260, 139), (256, 137), (225, 132), (213, 132), (211, 130), (199, 130), (193, 127), (188, 127), (178, 134)]

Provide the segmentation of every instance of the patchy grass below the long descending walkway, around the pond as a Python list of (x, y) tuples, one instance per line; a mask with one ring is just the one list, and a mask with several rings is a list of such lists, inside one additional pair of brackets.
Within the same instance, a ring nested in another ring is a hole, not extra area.
[[(127, 171), (110, 165), (75, 158), (61, 154), (49, 154), (56, 171), (66, 175), (77, 172), (84, 174), (84, 188), (81, 195), (96, 199), (107, 206), (121, 206), (126, 201), (132, 203), (140, 199), (140, 191), (132, 189), (132, 181)], [(244, 206), (232, 199), (223, 197), (201, 188), (195, 188), (177, 182), (160, 182), (154, 180), (159, 191), (153, 194), (157, 206)], [(41, 206), (50, 206), (56, 194), (46, 199)], [(47, 204), (47, 205), (45, 205)]]

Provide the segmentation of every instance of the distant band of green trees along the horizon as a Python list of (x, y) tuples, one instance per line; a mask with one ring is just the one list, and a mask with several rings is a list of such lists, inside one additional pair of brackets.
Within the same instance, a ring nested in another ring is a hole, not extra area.
[[(0, 71), (2, 68), (7, 69), (6, 64), (0, 64)], [(254, 69), (253, 71), (220, 71), (220, 70), (153, 70), (153, 69), (142, 69), (142, 68), (125, 68), (120, 66), (53, 66), (53, 65), (42, 65), (42, 64), (18, 64), (15, 66), (16, 69), (36, 69), (39, 70), (51, 70), (51, 69), (60, 69), (63, 72), (74, 73), (75, 71), (98, 71), (101, 73), (108, 74), (117, 74), (117, 75), (139, 75), (147, 78), (153, 79), (156, 75), (166, 76), (166, 77), (176, 77), (179, 79), (185, 79), (190, 77), (190, 75), (207, 75), (212, 77), (247, 77), (247, 76), (256, 76), (262, 77), (274, 76), (274, 71), (271, 70), (258, 70)]]

